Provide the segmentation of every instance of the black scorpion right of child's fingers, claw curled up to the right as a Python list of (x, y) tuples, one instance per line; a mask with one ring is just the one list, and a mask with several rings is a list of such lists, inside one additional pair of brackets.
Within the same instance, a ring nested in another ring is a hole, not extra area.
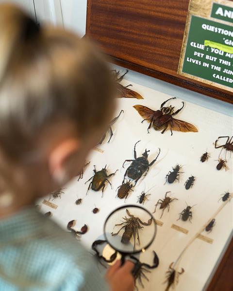
[[(159, 257), (158, 255), (155, 253), (155, 251), (153, 251), (154, 254), (154, 258), (153, 258), (153, 265), (150, 266), (149, 264), (146, 263), (141, 263), (135, 256), (131, 255), (130, 258), (133, 259), (135, 261), (135, 266), (133, 268), (133, 277), (134, 277), (134, 282), (136, 283), (136, 280), (138, 280), (139, 285), (142, 286), (142, 288), (144, 288), (144, 285), (142, 283), (142, 278), (146, 279), (147, 281), (149, 281), (148, 277), (146, 276), (145, 273), (151, 273), (150, 270), (148, 269), (155, 269), (158, 267), (159, 265)], [(135, 285), (136, 290), (138, 290), (137, 286)]]

